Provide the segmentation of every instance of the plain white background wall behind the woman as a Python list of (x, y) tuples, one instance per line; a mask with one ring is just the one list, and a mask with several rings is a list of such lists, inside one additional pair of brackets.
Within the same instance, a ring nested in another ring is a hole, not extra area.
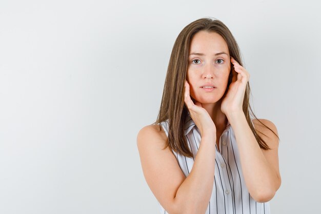
[(0, 213), (158, 213), (136, 135), (156, 120), (178, 33), (224, 22), (251, 104), (279, 133), (272, 213), (316, 213), (317, 1), (1, 1)]

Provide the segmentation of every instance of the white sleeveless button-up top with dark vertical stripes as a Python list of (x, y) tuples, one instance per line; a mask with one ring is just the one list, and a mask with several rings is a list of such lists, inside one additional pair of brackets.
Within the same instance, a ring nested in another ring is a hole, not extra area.
[[(168, 137), (168, 120), (160, 123)], [(252, 122), (253, 124), (253, 122)], [(192, 170), (194, 158), (200, 143), (200, 132), (188, 112), (184, 135), (193, 158), (186, 157), (172, 150), (185, 177)], [(256, 202), (250, 195), (240, 163), (240, 157), (232, 126), (227, 128), (219, 138), (219, 151), (215, 143), (214, 184), (206, 214), (270, 214), (270, 202)], [(160, 213), (168, 213), (159, 204)]]

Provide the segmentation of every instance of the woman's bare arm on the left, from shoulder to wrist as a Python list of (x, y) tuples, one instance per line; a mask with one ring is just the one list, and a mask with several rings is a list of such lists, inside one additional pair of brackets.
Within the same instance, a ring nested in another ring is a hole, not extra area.
[[(210, 133), (210, 132), (209, 132)], [(214, 182), (216, 134), (204, 134), (193, 168), (187, 178), (167, 147), (166, 134), (157, 125), (144, 127), (137, 135), (137, 147), (148, 186), (170, 214), (205, 213)]]

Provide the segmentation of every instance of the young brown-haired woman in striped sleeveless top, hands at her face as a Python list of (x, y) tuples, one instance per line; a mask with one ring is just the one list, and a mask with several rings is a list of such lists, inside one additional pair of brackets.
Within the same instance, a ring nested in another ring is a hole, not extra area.
[(179, 33), (157, 121), (137, 135), (161, 213), (270, 213), (279, 138), (252, 112), (249, 77), (222, 22), (201, 18)]

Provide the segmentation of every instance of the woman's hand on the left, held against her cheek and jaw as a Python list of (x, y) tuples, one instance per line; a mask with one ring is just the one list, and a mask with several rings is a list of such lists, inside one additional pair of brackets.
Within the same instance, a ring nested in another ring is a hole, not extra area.
[(214, 134), (216, 138), (216, 126), (211, 119), (211, 116), (206, 109), (202, 107), (201, 103), (197, 101), (195, 101), (195, 104), (193, 103), (190, 96), (190, 87), (187, 81), (185, 81), (184, 102), (190, 112), (192, 120), (200, 131), (200, 135)]

